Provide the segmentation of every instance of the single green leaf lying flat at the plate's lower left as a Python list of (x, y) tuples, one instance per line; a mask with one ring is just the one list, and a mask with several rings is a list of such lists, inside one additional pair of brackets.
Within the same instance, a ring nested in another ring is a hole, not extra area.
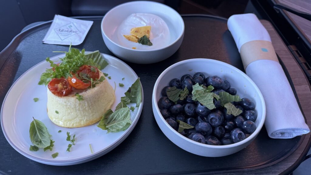
[(45, 127), (45, 125), (39, 121), (36, 120), (34, 117), (32, 117), (34, 120), (30, 123), (29, 128), (29, 135), (31, 143), (39, 148), (45, 148), (50, 145), (50, 134), (48, 132), (48, 129)]

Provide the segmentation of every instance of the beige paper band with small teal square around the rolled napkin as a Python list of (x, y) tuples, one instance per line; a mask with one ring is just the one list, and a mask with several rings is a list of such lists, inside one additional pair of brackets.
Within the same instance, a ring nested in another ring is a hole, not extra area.
[(245, 70), (248, 64), (259, 59), (269, 59), (279, 62), (270, 41), (248, 41), (241, 46), (240, 55)]

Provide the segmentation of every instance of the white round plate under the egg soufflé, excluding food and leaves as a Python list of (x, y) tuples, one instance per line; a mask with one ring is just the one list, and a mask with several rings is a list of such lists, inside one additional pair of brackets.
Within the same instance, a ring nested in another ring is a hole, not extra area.
[[(56, 61), (64, 56), (65, 54), (58, 55), (52, 57), (51, 60)], [(119, 59), (107, 54), (102, 54), (102, 56), (109, 63), (102, 72), (111, 76), (110, 80), (106, 79), (113, 88), (114, 82), (117, 84), (116, 101), (111, 107), (114, 111), (121, 101), (120, 98), (125, 96), (124, 92), (136, 81), (138, 76), (127, 64)], [(43, 61), (26, 71), (16, 80), (4, 98), (1, 108), (1, 127), (7, 141), (16, 151), (27, 158), (44, 164), (74, 165), (93, 160), (108, 153), (131, 133), (142, 111), (143, 91), (142, 103), (135, 108), (134, 112), (130, 112), (132, 124), (125, 131), (106, 134), (106, 130), (96, 126), (98, 122), (81, 128), (63, 128), (50, 121), (46, 113), (47, 88), (44, 85), (38, 85), (41, 73), (47, 68), (50, 68), (49, 63)], [(118, 83), (123, 83), (124, 87), (119, 87)], [(35, 97), (39, 98), (38, 102), (33, 101)], [(135, 105), (130, 103), (128, 106), (135, 107)], [(42, 121), (48, 128), (49, 134), (52, 135), (51, 138), (55, 141), (52, 151), (47, 150), (44, 152), (43, 149), (36, 152), (29, 151), (29, 147), (32, 145), (29, 138), (32, 117)], [(58, 133), (58, 130), (62, 130), (62, 132)], [(66, 151), (67, 145), (70, 143), (66, 141), (67, 131), (70, 132), (70, 135), (76, 134), (76, 145), (72, 145), (70, 152)], [(89, 144), (91, 144), (93, 154), (91, 154)], [(52, 158), (51, 154), (56, 152), (58, 152), (58, 157)]]

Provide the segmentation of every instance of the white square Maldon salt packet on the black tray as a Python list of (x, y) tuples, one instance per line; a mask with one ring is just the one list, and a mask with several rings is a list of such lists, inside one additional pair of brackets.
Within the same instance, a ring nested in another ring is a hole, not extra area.
[(92, 24), (93, 21), (55, 15), (42, 42), (46, 44), (79, 45), (85, 39)]

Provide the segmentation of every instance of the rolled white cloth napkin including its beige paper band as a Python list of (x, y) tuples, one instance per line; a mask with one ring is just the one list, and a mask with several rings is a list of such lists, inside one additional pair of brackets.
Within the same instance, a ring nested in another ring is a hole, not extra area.
[(267, 30), (254, 14), (232, 15), (228, 29), (239, 49), (246, 74), (256, 83), (266, 103), (269, 137), (290, 139), (310, 132)]

